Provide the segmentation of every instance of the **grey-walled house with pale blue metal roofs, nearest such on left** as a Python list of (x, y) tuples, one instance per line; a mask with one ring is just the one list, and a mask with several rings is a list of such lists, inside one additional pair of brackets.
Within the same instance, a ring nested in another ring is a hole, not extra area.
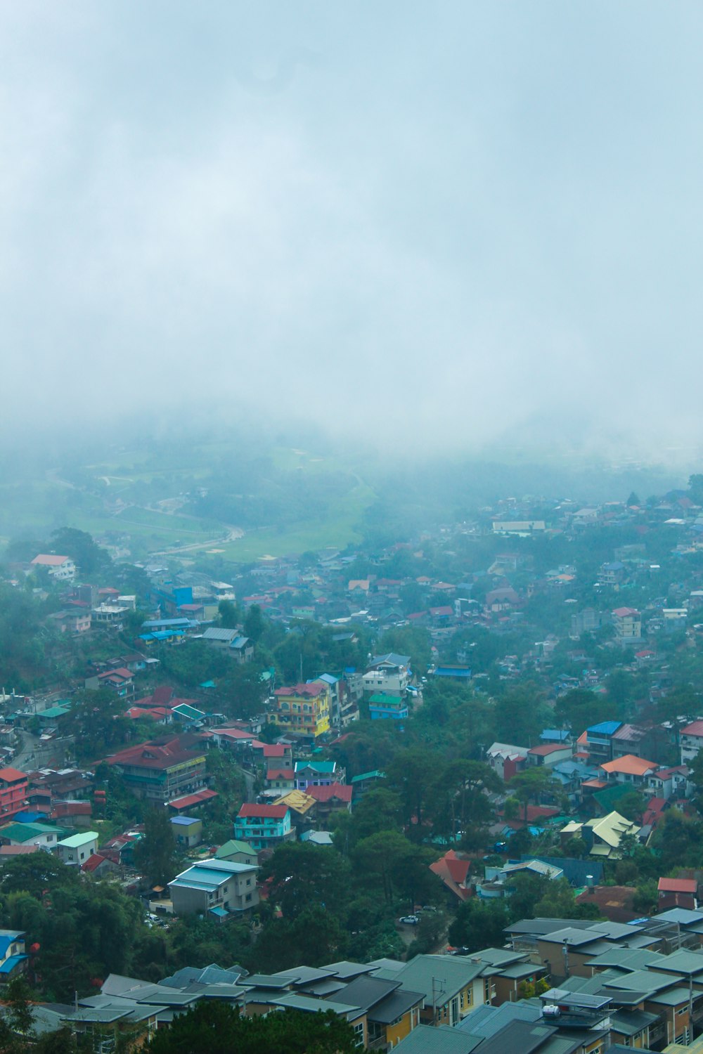
[(223, 921), (249, 914), (258, 904), (253, 864), (199, 860), (169, 882), (175, 915), (204, 915)]

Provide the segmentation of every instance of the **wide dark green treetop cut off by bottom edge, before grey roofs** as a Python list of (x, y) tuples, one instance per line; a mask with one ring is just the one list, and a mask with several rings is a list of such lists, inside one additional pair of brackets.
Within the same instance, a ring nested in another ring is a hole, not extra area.
[(354, 1030), (334, 1011), (296, 1010), (246, 1017), (217, 999), (198, 1002), (159, 1029), (144, 1047), (149, 1054), (356, 1054)]

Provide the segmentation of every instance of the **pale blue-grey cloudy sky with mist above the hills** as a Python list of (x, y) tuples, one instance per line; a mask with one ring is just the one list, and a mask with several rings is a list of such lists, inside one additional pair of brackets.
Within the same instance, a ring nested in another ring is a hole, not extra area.
[(702, 34), (698, 0), (4, 0), (3, 426), (703, 449)]

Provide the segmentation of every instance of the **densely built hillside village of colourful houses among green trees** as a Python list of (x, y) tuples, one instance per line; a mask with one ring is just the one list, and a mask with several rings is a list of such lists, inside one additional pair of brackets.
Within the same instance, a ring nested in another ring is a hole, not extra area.
[(703, 1032), (700, 477), (221, 578), (19, 549), (0, 982), (38, 1035), (138, 1045), (214, 999), (403, 1054)]

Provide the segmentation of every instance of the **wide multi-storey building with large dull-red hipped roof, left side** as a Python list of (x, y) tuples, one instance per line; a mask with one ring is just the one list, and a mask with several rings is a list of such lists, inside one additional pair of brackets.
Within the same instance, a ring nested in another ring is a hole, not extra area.
[(165, 804), (204, 787), (206, 756), (184, 745), (187, 737), (154, 739), (106, 758), (138, 798)]

